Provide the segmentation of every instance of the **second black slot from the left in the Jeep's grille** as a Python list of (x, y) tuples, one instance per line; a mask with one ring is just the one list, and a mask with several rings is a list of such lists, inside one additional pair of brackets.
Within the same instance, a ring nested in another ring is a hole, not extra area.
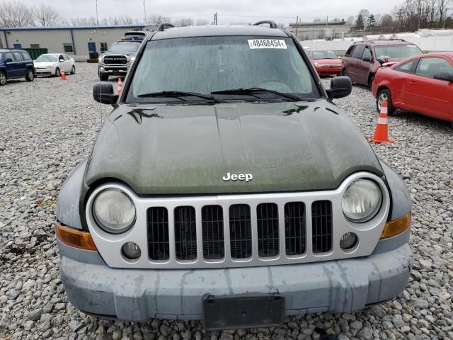
[(197, 259), (197, 223), (193, 207), (175, 209), (175, 249), (178, 260)]

